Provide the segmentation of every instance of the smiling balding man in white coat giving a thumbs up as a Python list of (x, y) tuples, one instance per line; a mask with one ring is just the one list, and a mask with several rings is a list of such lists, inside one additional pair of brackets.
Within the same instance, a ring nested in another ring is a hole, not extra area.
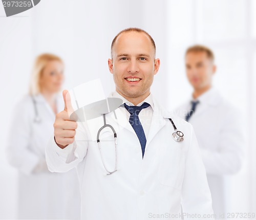
[[(117, 131), (116, 171), (112, 130), (100, 135), (101, 154), (95, 137), (102, 117), (71, 121), (70, 96), (63, 91), (65, 109), (56, 115), (46, 158), (52, 172), (77, 168), (82, 220), (181, 219), (181, 205), (185, 219), (213, 217), (192, 126), (163, 111), (150, 92), (160, 65), (155, 54), (154, 40), (141, 29), (125, 29), (112, 42), (108, 65), (116, 91), (110, 97), (123, 103), (106, 114)], [(184, 141), (173, 139), (168, 118)]]

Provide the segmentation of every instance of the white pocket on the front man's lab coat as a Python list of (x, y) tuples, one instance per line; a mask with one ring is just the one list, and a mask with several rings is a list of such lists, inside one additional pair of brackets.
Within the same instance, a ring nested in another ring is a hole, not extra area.
[(161, 146), (160, 159), (159, 182), (181, 190), (185, 169), (182, 145)]

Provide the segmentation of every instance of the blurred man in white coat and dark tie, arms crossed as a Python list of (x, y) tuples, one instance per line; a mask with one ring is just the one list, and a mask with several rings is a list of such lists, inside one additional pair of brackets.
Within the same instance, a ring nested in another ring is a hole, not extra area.
[(194, 92), (175, 113), (195, 129), (219, 218), (227, 217), (231, 203), (230, 174), (241, 168), (244, 145), (241, 114), (212, 87), (216, 72), (214, 53), (195, 45), (185, 53), (186, 75)]

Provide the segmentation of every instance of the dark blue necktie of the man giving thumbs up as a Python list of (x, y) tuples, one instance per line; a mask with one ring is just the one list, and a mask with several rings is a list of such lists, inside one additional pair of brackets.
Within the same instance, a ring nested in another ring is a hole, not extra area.
[(146, 136), (145, 136), (143, 127), (139, 120), (139, 113), (143, 108), (147, 108), (148, 106), (150, 106), (150, 104), (148, 104), (146, 102), (144, 102), (141, 106), (134, 106), (134, 105), (129, 106), (124, 103), (124, 107), (131, 114), (129, 122), (132, 125), (132, 127), (140, 141), (140, 146), (141, 146), (141, 150), (142, 150), (142, 159), (144, 157), (144, 152), (145, 152)]

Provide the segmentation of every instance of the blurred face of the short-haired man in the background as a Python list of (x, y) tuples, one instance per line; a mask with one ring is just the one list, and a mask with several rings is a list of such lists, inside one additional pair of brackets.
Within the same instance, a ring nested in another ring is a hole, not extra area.
[(206, 52), (188, 52), (185, 59), (187, 78), (194, 90), (206, 91), (209, 89), (216, 66), (207, 57)]

